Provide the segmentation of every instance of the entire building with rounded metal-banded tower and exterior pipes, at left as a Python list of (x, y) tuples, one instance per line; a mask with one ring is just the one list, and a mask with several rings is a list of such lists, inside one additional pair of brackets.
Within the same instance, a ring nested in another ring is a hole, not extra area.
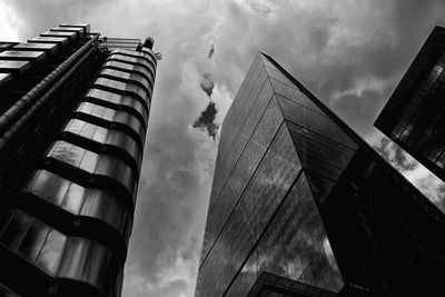
[(120, 296), (152, 39), (62, 23), (0, 49), (0, 296)]

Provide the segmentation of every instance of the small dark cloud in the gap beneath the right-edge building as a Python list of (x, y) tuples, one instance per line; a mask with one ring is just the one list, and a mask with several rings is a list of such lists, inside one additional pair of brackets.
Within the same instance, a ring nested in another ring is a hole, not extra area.
[(412, 157), (386, 137), (382, 138), (379, 146), (374, 146), (374, 148), (398, 171), (411, 171), (417, 167), (417, 162)]

